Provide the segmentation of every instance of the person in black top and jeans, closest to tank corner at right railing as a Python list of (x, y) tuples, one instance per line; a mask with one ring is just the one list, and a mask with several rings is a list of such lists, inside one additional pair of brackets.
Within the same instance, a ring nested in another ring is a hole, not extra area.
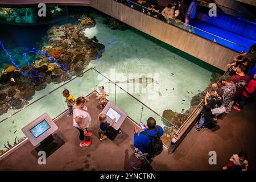
[(200, 131), (202, 127), (205, 127), (209, 123), (210, 118), (213, 117), (212, 109), (221, 106), (223, 93), (223, 89), (218, 88), (212, 94), (209, 94), (208, 92), (205, 94), (205, 105), (201, 111), (200, 121), (196, 124), (197, 131)]

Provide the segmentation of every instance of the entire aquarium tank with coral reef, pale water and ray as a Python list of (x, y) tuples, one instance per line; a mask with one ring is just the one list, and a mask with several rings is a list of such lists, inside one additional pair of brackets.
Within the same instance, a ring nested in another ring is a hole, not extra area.
[[(222, 75), (217, 68), (90, 7), (49, 6), (47, 15), (38, 18), (36, 7), (0, 7), (1, 154), (24, 139), (21, 129), (38, 117), (36, 110), (53, 102), (67, 109), (63, 90), (54, 99), (36, 100), (76, 76), (66, 89), (84, 89), (86, 96), (86, 88), (98, 91), (105, 86), (107, 99), (116, 94), (117, 105), (135, 122), (146, 123), (151, 110), (166, 119), (157, 123), (164, 128), (162, 139), (168, 146), (210, 82)], [(82, 74), (89, 68), (98, 72)], [(140, 102), (128, 99), (121, 89), (112, 92), (113, 82), (151, 109), (143, 110), (145, 117), (140, 117)], [(52, 112), (60, 114), (58, 109)]]

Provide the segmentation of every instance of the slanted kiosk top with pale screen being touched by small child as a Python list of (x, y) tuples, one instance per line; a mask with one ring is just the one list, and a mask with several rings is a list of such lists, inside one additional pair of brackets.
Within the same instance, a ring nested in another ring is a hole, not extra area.
[(105, 113), (107, 115), (107, 121), (108, 123), (112, 122), (112, 119), (115, 118), (114, 125), (112, 126), (115, 130), (118, 130), (119, 127), (122, 125), (123, 121), (125, 121), (125, 118), (127, 117), (127, 114), (119, 109), (117, 105), (115, 105), (113, 102), (108, 102), (104, 109), (102, 110), (102, 113)]

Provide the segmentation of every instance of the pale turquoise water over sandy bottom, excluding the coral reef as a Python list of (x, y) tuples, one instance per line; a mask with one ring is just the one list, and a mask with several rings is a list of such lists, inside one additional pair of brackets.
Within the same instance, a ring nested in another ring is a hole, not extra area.
[[(184, 113), (190, 108), (192, 97), (207, 88), (212, 72), (195, 64), (195, 60), (189, 60), (189, 56), (184, 58), (182, 54), (170, 51), (168, 46), (155, 42), (133, 28), (125, 31), (112, 30), (104, 24), (104, 16), (97, 13), (93, 13), (92, 16), (97, 24), (93, 28), (86, 28), (85, 36), (89, 38), (96, 36), (106, 48), (102, 51), (102, 57), (90, 61), (85, 69), (96, 67), (102, 75), (117, 82), (159, 115), (167, 109)], [(147, 83), (140, 80), (146, 77)], [(45, 89), (36, 91), (28, 102), (35, 101), (63, 83), (48, 84)], [(150, 109), (143, 107), (126, 93), (122, 93), (121, 89), (115, 90), (114, 84), (104, 80), (97, 72), (89, 71), (0, 123), (0, 150), (6, 150), (4, 144), (7, 146), (7, 141), (13, 145), (15, 138), (22, 139), (24, 137), (22, 127), (40, 114), (47, 111), (52, 118), (55, 118), (67, 109), (61, 94), (64, 89), (69, 89), (73, 96), (79, 97), (98, 90), (98, 86), (105, 86), (105, 91), (109, 94), (107, 98), (116, 101), (117, 105), (135, 122), (144, 122), (152, 116), (159, 125), (164, 126), (161, 118)], [(115, 93), (117, 93), (116, 100)], [(8, 113), (1, 115), (0, 120), (14, 111), (9, 110)]]

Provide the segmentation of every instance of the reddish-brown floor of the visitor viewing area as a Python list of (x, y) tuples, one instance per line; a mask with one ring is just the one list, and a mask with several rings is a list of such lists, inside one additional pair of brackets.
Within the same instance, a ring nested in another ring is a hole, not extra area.
[[(30, 142), (0, 161), (0, 170), (131, 170), (130, 160), (134, 159), (133, 129), (134, 123), (126, 118), (122, 133), (114, 141), (100, 141), (97, 135), (99, 122), (96, 96), (90, 96), (88, 110), (92, 117), (89, 130), (92, 144), (79, 147), (79, 132), (72, 126), (72, 118), (61, 117), (56, 121), (57, 134), (65, 141), (57, 151), (46, 160), (46, 165), (39, 165), (35, 147)], [(255, 170), (256, 164), (256, 102), (247, 105), (241, 113), (232, 111), (220, 120), (212, 129), (197, 132), (193, 128), (173, 154), (164, 150), (157, 156), (147, 170), (220, 170), (228, 163), (229, 157), (239, 151), (249, 155), (249, 169)], [(209, 151), (217, 152), (217, 164), (208, 163)]]

